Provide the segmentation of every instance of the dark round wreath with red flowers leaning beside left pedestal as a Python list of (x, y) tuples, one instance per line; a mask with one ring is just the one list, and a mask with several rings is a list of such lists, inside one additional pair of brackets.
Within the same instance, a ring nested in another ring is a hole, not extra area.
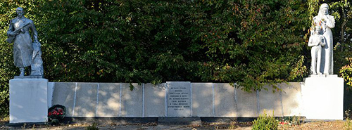
[(58, 124), (65, 117), (66, 108), (63, 105), (53, 105), (48, 110), (48, 119), (51, 124)]

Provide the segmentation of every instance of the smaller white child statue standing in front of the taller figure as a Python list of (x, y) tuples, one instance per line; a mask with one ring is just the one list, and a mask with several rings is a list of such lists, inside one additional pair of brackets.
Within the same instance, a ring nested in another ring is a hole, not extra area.
[(308, 46), (312, 46), (312, 63), (310, 71), (312, 74), (322, 74), (320, 72), (320, 60), (322, 55), (322, 46), (325, 46), (325, 38), (320, 34), (320, 26), (315, 26), (313, 35), (309, 37)]

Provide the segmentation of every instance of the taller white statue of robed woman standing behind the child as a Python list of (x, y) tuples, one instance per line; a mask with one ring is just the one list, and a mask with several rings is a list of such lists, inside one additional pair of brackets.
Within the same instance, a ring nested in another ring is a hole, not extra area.
[(326, 44), (322, 49), (322, 59), (320, 65), (320, 72), (324, 74), (333, 74), (333, 58), (332, 49), (334, 48), (332, 42), (332, 28), (335, 27), (334, 16), (329, 15), (329, 6), (327, 4), (322, 4), (319, 9), (317, 16), (313, 18), (313, 25), (320, 26), (322, 29), (322, 35), (326, 39)]

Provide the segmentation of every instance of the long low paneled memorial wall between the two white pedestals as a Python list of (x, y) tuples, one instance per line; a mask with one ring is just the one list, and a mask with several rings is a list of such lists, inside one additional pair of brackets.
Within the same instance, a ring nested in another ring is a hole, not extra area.
[[(301, 116), (301, 83), (282, 91), (247, 93), (224, 83), (163, 84), (51, 82), (49, 106), (61, 104), (67, 117), (258, 117)], [(268, 87), (271, 88), (271, 87)]]

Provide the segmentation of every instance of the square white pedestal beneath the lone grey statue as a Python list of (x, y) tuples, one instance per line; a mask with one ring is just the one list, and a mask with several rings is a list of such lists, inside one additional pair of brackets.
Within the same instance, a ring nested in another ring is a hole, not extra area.
[(10, 123), (47, 122), (48, 79), (10, 80)]

